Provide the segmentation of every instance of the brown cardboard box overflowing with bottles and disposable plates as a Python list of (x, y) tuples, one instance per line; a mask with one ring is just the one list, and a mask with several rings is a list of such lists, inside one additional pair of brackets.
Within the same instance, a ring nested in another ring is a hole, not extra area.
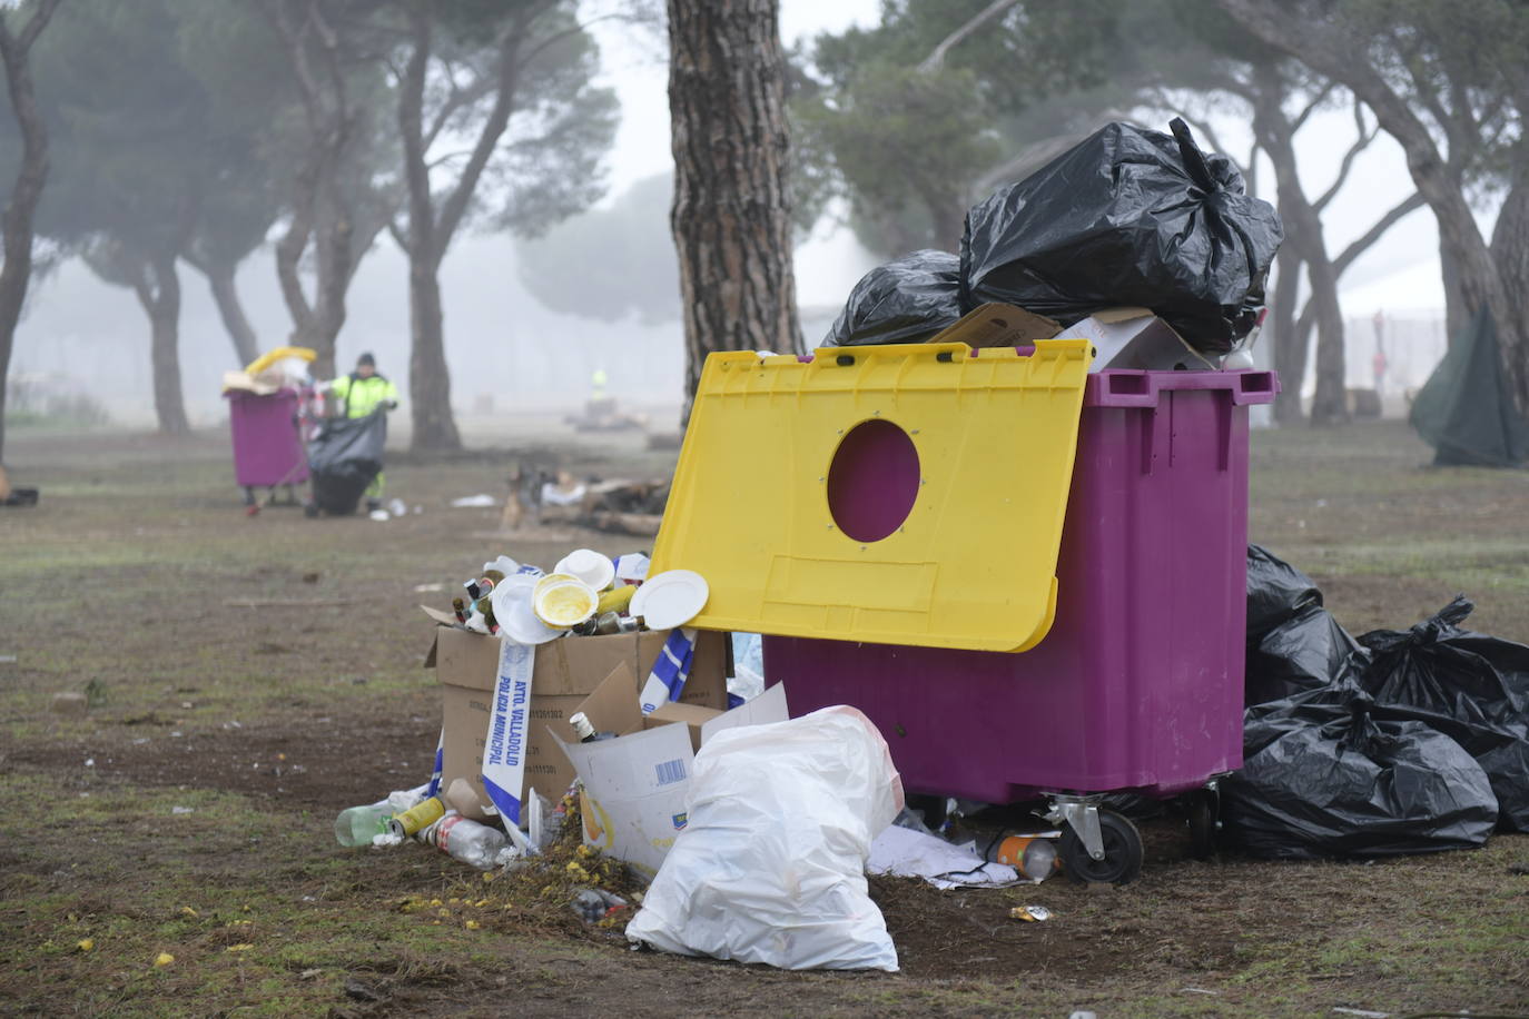
[[(439, 613), (427, 613), (440, 622)], [(667, 639), (668, 631), (563, 637), (537, 648), (521, 799), (526, 799), (531, 788), (550, 799), (563, 794), (576, 773), (555, 749), (550, 735), (573, 741), (569, 715), (578, 710), (579, 703), (616, 665), (628, 668), (635, 684), (631, 700), (636, 701), (636, 683), (639, 678), (647, 680)], [(726, 634), (699, 634), (682, 703), (719, 710), (728, 706), (729, 651)], [(488, 741), (491, 694), (498, 678), (498, 637), (472, 634), (457, 626), (437, 626), (425, 658), (425, 668), (431, 666), (442, 689), (442, 788), (454, 778), (468, 779), (479, 793), (480, 811), (476, 816), (483, 817), (483, 808), (489, 807), (488, 793), (483, 791), (483, 746)]]

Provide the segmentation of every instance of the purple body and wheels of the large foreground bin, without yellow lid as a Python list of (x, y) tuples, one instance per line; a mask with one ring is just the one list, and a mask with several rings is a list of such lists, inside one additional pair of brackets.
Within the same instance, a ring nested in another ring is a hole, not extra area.
[(1079, 880), (1130, 880), (1141, 866), (1139, 836), (1098, 810), (1101, 793), (1194, 791), (1203, 848), (1214, 779), (1242, 765), (1248, 406), (1277, 390), (1271, 371), (1087, 380), (1057, 616), (1031, 651), (766, 636), (766, 677), (786, 683), (792, 715), (865, 712), (913, 793), (1049, 796)]

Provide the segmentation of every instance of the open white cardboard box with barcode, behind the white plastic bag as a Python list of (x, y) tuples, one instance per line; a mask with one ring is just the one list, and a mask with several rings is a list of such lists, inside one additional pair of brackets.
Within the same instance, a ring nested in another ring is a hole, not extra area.
[(615, 739), (576, 742), (555, 732), (552, 738), (584, 785), (584, 845), (651, 877), (685, 830), (696, 752), (723, 729), (786, 721), (786, 689), (772, 686), (729, 712), (667, 704), (644, 718), (633, 681), (622, 662), (576, 707), (596, 732), (618, 733)]

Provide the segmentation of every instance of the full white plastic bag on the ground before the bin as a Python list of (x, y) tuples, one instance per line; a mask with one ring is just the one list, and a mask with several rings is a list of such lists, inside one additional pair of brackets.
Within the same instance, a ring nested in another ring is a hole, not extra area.
[(896, 972), (865, 857), (899, 810), (887, 742), (853, 707), (719, 732), (627, 938), (792, 970)]

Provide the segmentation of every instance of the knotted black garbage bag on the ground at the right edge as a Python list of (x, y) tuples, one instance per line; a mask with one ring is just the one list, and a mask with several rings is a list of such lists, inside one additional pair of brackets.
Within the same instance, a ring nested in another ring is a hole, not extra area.
[(1486, 772), (1498, 827), (1529, 831), (1529, 646), (1462, 629), (1474, 608), (1459, 596), (1410, 629), (1364, 634), (1373, 662), (1361, 683), (1385, 707), (1442, 717), (1434, 727)]

